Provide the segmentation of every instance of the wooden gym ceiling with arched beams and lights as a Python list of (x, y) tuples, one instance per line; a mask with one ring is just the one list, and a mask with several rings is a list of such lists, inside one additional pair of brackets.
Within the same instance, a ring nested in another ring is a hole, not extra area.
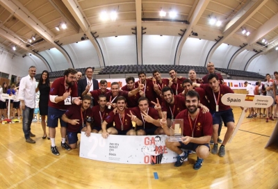
[[(166, 17), (159, 16), (161, 9), (167, 12)], [(102, 11), (112, 10), (118, 13), (115, 21), (100, 19)], [(171, 10), (177, 11), (174, 19), (169, 17)], [(222, 24), (211, 26), (208, 23), (210, 17)], [(234, 46), (228, 48), (229, 52), (222, 58), (227, 60), (222, 67), (231, 67), (245, 50), (256, 51), (254, 59), (277, 47), (277, 20), (277, 0), (0, 0), (0, 46), (17, 56), (40, 54), (38, 58), (56, 70), (81, 65), (76, 63), (79, 51), (74, 51), (74, 47), (84, 34), (99, 66), (107, 62), (104, 56), (107, 49), (111, 49), (107, 43), (110, 37), (134, 35), (132, 44), (136, 45), (136, 62), (141, 64), (142, 48), (146, 45), (142, 35), (169, 35), (174, 42), (169, 47), (172, 49), (170, 60), (174, 64), (181, 61), (183, 44), (188, 43), (189, 38), (199, 38), (215, 43), (202, 55), (205, 57), (202, 58), (203, 65), (215, 56), (222, 44)], [(61, 28), (63, 23), (67, 28)], [(241, 33), (243, 28), (250, 31), (249, 36)], [(28, 42), (32, 36), (35, 40)], [(270, 44), (262, 44), (263, 38)], [(17, 47), (15, 51), (12, 50), (14, 46)], [(48, 51), (53, 48), (59, 56)], [(61, 65), (56, 65), (57, 59)]]

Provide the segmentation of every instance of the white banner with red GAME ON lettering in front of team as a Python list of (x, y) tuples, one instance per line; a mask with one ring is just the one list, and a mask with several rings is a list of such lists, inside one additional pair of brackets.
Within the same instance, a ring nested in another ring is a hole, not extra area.
[(176, 162), (177, 154), (165, 146), (167, 135), (109, 135), (81, 133), (79, 156), (97, 161), (126, 164)]

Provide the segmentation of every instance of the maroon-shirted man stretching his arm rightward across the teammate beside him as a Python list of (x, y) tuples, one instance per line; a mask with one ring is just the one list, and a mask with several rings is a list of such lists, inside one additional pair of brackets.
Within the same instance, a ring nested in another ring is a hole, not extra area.
[(111, 91), (106, 92), (105, 96), (106, 99), (109, 101), (106, 103), (106, 106), (108, 106), (108, 109), (111, 109), (111, 107), (115, 108), (116, 104), (113, 103), (115, 101), (115, 99), (117, 99), (117, 97), (124, 97), (125, 99), (129, 98), (129, 97), (133, 97), (135, 94), (137, 94), (138, 92), (140, 92), (140, 90), (142, 90), (142, 88), (144, 88), (144, 85), (142, 85), (139, 82), (138, 88), (133, 89), (131, 91), (124, 91), (124, 90), (120, 90), (120, 85), (117, 82), (113, 82), (111, 83)]

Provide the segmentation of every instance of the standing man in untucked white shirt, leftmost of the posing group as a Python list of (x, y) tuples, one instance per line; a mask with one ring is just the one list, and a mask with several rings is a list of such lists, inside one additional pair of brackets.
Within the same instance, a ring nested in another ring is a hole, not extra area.
[(23, 110), (23, 120), (22, 129), (24, 132), (24, 137), (26, 142), (35, 143), (30, 137), (35, 137), (31, 133), (31, 123), (33, 120), (33, 113), (35, 108), (35, 88), (37, 83), (35, 83), (35, 66), (29, 67), (28, 76), (24, 76), (19, 85), (19, 100), (22, 103)]

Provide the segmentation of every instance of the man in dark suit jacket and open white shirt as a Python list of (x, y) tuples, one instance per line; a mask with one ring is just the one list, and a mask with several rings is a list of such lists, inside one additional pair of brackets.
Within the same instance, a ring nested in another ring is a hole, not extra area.
[(86, 89), (86, 87), (91, 90), (99, 89), (99, 83), (96, 79), (92, 79), (92, 73), (94, 72), (94, 68), (87, 67), (85, 69), (85, 78), (80, 79), (78, 82), (78, 96), (82, 97), (82, 92)]

